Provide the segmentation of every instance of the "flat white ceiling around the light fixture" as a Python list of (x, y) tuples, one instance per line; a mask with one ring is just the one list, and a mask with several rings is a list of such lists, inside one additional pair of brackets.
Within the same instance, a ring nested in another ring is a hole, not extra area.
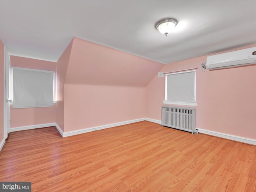
[(256, 44), (256, 0), (0, 0), (11, 55), (56, 62), (73, 37), (167, 64)]

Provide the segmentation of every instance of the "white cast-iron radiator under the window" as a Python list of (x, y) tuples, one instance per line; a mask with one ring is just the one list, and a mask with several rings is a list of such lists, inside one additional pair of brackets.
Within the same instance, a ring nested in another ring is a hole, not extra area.
[(162, 106), (161, 125), (198, 134), (196, 130), (196, 109)]

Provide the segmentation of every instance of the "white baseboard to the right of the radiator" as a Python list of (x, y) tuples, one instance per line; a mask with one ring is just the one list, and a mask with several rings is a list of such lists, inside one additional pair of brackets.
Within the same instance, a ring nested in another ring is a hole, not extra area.
[(198, 130), (199, 133), (212, 135), (212, 136), (216, 136), (216, 137), (220, 137), (220, 138), (224, 138), (224, 139), (228, 139), (228, 140), (233, 140), (233, 141), (237, 141), (237, 142), (256, 145), (255, 139), (240, 137), (240, 136), (236, 136), (236, 135), (230, 135), (230, 134), (225, 134), (225, 133), (220, 133), (220, 132), (210, 131), (210, 130), (205, 130), (205, 129), (200, 129), (200, 128), (196, 128), (196, 129)]

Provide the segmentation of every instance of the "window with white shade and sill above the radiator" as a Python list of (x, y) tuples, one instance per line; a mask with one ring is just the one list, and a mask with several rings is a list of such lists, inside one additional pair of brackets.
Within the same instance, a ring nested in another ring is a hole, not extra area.
[(165, 76), (164, 104), (197, 106), (196, 71), (173, 73)]

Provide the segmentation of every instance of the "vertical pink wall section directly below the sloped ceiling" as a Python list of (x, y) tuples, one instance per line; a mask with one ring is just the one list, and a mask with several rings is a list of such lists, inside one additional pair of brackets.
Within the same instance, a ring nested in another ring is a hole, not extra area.
[(145, 117), (144, 87), (65, 84), (65, 132)]

